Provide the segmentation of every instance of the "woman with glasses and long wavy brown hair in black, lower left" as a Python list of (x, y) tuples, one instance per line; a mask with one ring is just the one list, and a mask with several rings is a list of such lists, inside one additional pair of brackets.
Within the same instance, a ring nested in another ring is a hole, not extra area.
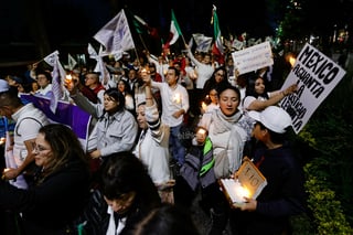
[(33, 183), (23, 190), (1, 180), (0, 210), (21, 213), (23, 234), (74, 234), (74, 222), (89, 196), (90, 174), (82, 143), (67, 126), (49, 124), (40, 128), (32, 154)]

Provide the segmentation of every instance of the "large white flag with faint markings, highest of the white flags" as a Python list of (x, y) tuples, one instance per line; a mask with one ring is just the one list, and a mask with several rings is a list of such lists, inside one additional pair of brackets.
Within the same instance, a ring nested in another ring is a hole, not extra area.
[(105, 46), (104, 55), (122, 53), (124, 51), (135, 49), (124, 9), (101, 28), (94, 35), (94, 39)]

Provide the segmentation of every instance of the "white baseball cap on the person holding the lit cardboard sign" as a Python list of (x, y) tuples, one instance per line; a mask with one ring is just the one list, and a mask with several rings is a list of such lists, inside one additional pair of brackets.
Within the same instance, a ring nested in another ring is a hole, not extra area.
[(286, 132), (286, 128), (291, 126), (289, 114), (277, 106), (268, 106), (263, 111), (250, 110), (248, 115), (277, 133)]

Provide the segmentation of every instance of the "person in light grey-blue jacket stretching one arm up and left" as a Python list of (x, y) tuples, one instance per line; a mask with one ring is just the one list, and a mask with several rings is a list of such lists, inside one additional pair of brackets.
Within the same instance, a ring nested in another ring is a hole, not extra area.
[(133, 115), (125, 107), (125, 96), (117, 88), (104, 92), (104, 104), (93, 104), (78, 92), (78, 81), (65, 81), (65, 87), (75, 104), (97, 121), (89, 132), (87, 152), (93, 159), (104, 161), (118, 151), (130, 151), (138, 133)]

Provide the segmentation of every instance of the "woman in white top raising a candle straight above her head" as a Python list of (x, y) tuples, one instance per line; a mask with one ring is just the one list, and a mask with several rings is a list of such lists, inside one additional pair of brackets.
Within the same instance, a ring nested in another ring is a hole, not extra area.
[(174, 181), (171, 180), (169, 169), (169, 136), (170, 128), (161, 121), (158, 104), (153, 98), (150, 74), (142, 72), (146, 99), (137, 105), (137, 122), (140, 137), (132, 153), (148, 168), (148, 172), (159, 190), (162, 201), (172, 195)]

